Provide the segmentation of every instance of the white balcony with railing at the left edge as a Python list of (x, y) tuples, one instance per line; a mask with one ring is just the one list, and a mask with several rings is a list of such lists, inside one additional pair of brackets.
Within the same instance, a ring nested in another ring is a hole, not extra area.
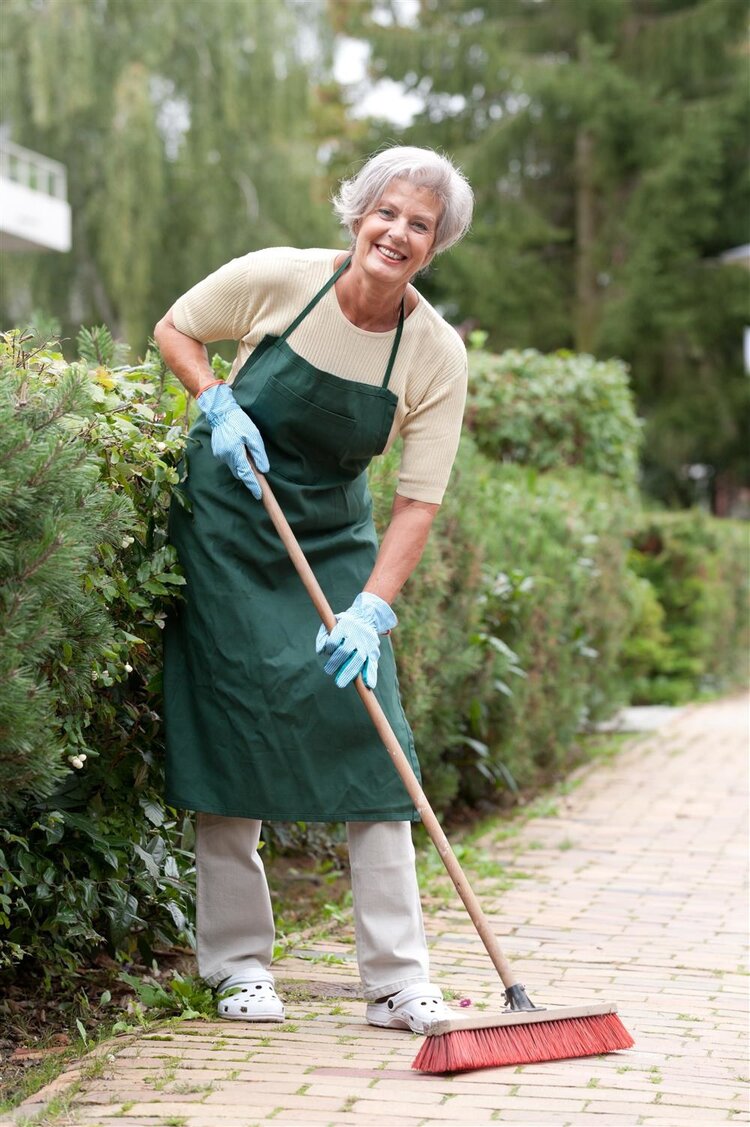
[(0, 250), (70, 250), (65, 167), (0, 140)]

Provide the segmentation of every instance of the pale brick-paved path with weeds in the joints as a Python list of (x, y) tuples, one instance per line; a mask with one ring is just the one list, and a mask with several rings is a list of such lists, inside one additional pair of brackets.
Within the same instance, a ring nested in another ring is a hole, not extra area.
[[(418, 1038), (364, 1024), (347, 919), (277, 964), (285, 1024), (173, 1023), (114, 1039), (15, 1122), (747, 1122), (747, 698), (692, 707), (579, 772), (518, 832), (497, 820), (470, 853), (469, 876), (532, 997), (616, 1001), (634, 1049), (417, 1075)], [(501, 983), (447, 878), (435, 870), (424, 893), (433, 978), (498, 1011)], [(45, 1118), (55, 1095), (62, 1111)]]

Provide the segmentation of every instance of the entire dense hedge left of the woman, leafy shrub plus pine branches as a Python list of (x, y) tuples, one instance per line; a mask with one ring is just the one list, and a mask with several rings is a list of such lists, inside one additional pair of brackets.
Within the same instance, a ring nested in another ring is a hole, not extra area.
[[(161, 798), (159, 719), (160, 627), (183, 582), (166, 513), (185, 394), (155, 355), (106, 366), (106, 330), (80, 347), (74, 365), (18, 334), (0, 352), (3, 450), (16, 451), (1, 467), (14, 507), (0, 541), (0, 716), (44, 702), (25, 743), (15, 727), (2, 739), (6, 771), (20, 758), (27, 778), (5, 796), (0, 962), (47, 980), (103, 944), (148, 955), (192, 934), (189, 826)], [(55, 538), (48, 577), (29, 571)]]

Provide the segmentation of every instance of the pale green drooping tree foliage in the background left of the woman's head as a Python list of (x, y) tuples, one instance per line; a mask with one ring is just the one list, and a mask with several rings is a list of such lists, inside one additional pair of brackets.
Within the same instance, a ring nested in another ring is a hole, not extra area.
[(332, 240), (317, 147), (339, 117), (301, 37), (303, 17), (325, 59), (325, 26), (303, 7), (7, 0), (6, 125), (68, 166), (73, 249), (16, 257), (6, 323), (34, 308), (71, 335), (104, 320), (140, 352), (175, 298), (228, 259)]

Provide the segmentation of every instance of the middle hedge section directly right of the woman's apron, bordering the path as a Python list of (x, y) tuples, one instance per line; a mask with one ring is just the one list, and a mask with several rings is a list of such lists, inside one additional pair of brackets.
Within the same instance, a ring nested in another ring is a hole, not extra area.
[[(381, 529), (397, 462), (394, 453), (371, 471)], [(394, 635), (439, 809), (561, 771), (576, 733), (623, 701), (633, 518), (605, 479), (496, 465), (464, 437)]]

